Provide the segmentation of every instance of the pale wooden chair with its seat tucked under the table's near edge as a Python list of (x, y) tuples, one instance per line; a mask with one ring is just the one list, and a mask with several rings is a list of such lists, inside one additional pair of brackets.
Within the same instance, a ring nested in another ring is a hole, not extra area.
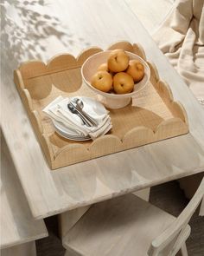
[(185, 245), (188, 222), (204, 195), (201, 181), (188, 206), (177, 217), (131, 194), (92, 206), (63, 239), (63, 245), (79, 255), (169, 255)]

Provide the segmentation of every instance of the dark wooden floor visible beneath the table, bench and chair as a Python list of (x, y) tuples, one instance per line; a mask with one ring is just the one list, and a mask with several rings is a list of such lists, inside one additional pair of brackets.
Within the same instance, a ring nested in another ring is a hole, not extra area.
[[(182, 209), (188, 204), (188, 200), (176, 181), (152, 187), (150, 202), (175, 216), (181, 213)], [(64, 256), (65, 250), (61, 246), (61, 240), (57, 232), (57, 217), (48, 218), (46, 225), (49, 237), (36, 241), (37, 255)], [(202, 256), (204, 255), (204, 218), (199, 217), (198, 213), (194, 213), (190, 226), (192, 232), (187, 241), (188, 255)]]

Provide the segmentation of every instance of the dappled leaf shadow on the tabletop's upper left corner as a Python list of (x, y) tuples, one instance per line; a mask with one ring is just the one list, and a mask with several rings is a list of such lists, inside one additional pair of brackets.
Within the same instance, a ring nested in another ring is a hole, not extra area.
[(13, 69), (19, 62), (41, 59), (48, 47), (44, 40), (49, 36), (64, 46), (74, 43), (73, 35), (62, 27), (58, 17), (44, 14), (47, 5), (45, 0), (1, 0), (2, 49), (6, 51), (6, 60), (14, 62)]

